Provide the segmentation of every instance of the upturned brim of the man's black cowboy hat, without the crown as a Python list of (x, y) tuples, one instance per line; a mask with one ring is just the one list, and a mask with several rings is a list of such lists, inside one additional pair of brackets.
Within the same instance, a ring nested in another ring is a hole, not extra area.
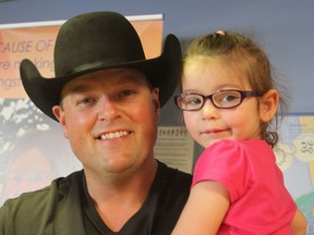
[(87, 73), (109, 69), (135, 69), (143, 72), (153, 87), (159, 88), (159, 101), (162, 107), (177, 88), (181, 74), (181, 48), (174, 35), (168, 35), (165, 39), (162, 53), (155, 59), (131, 61), (120, 64), (94, 63), (84, 64), (69, 75), (47, 78), (40, 75), (34, 63), (23, 60), (20, 74), (24, 89), (31, 100), (48, 116), (57, 120), (52, 107), (60, 103), (63, 86), (70, 81)]

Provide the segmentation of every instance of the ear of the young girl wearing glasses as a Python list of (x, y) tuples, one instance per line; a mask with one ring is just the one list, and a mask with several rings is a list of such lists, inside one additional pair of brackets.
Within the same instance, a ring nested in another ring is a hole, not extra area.
[(276, 89), (268, 90), (263, 97), (259, 106), (261, 121), (269, 122), (277, 112), (279, 102), (279, 92)]

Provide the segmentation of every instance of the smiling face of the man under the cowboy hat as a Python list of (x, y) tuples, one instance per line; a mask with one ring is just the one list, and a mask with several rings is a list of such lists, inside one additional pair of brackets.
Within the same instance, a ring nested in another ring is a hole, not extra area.
[(85, 172), (137, 171), (153, 161), (159, 119), (158, 89), (130, 69), (107, 70), (69, 82), (53, 113)]

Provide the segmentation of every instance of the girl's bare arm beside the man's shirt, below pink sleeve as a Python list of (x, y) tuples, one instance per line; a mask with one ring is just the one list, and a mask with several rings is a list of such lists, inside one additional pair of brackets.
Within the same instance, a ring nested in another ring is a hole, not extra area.
[(229, 193), (217, 182), (193, 186), (172, 235), (216, 234), (229, 208)]

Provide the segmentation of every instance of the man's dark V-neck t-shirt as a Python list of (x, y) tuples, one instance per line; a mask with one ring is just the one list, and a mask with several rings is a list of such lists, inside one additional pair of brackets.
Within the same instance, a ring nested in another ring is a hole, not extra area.
[(0, 208), (1, 235), (168, 235), (186, 202), (192, 176), (158, 163), (142, 208), (113, 233), (100, 219), (86, 189), (84, 172), (58, 178)]

